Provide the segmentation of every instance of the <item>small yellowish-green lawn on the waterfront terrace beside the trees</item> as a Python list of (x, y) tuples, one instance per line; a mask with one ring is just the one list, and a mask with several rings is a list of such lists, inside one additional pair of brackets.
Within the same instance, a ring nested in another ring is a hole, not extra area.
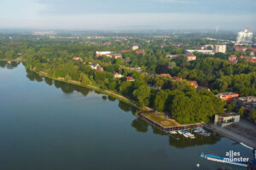
[(143, 116), (147, 117), (153, 122), (157, 122), (163, 127), (174, 127), (179, 126), (180, 124), (176, 122), (174, 119), (166, 118), (164, 113), (159, 113), (158, 115), (155, 112), (152, 113), (143, 113)]

